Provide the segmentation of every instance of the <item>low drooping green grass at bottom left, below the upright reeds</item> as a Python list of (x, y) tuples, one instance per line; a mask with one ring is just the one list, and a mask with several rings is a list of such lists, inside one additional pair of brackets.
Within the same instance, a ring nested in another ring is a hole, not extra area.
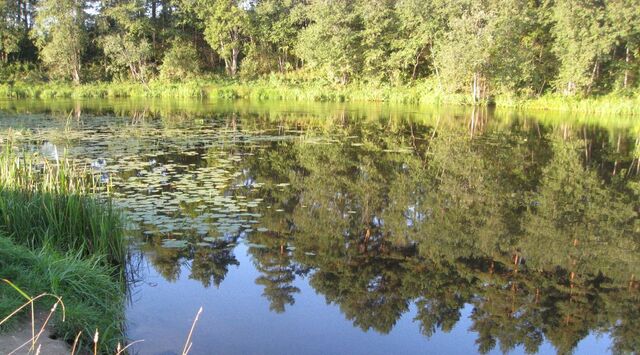
[[(0, 233), (0, 278), (11, 280), (32, 296), (51, 293), (61, 297), (66, 317), (62, 322), (60, 312), (56, 313), (53, 323), (56, 335), (73, 340), (82, 332), (80, 345), (86, 350), (92, 345), (96, 329), (100, 332), (101, 353), (113, 354), (117, 344), (124, 343), (124, 293), (114, 282), (113, 272), (100, 256), (82, 258), (46, 248), (32, 250)], [(0, 318), (24, 302), (23, 296), (0, 283)], [(54, 301), (42, 302), (37, 306), (48, 309)]]

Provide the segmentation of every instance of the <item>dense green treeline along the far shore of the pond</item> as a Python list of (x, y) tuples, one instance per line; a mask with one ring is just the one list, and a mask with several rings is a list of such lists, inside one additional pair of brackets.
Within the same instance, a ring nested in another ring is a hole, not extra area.
[(0, 81), (428, 80), (478, 101), (633, 92), (639, 57), (640, 0), (0, 0)]

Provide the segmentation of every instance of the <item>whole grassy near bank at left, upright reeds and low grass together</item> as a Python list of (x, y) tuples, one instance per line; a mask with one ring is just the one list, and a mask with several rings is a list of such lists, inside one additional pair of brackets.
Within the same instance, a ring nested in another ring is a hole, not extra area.
[[(29, 295), (61, 296), (67, 317), (57, 319), (58, 334), (73, 340), (81, 331), (83, 344), (90, 345), (98, 329), (101, 349), (111, 352), (123, 340), (126, 246), (120, 213), (107, 199), (90, 194), (99, 187), (90, 169), (5, 142), (0, 278)], [(0, 316), (21, 303), (20, 294), (0, 286)]]

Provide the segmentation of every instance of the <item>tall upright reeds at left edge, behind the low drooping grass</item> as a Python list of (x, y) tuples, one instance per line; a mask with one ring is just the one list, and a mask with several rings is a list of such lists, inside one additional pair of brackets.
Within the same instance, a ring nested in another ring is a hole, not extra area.
[(104, 256), (123, 266), (123, 218), (88, 169), (21, 152), (11, 142), (0, 152), (0, 231), (30, 248)]

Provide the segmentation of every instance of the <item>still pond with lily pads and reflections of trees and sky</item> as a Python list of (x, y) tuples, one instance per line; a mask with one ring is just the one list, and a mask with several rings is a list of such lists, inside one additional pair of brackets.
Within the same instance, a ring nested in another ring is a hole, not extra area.
[(379, 103), (1, 101), (127, 211), (139, 354), (640, 350), (640, 124)]

